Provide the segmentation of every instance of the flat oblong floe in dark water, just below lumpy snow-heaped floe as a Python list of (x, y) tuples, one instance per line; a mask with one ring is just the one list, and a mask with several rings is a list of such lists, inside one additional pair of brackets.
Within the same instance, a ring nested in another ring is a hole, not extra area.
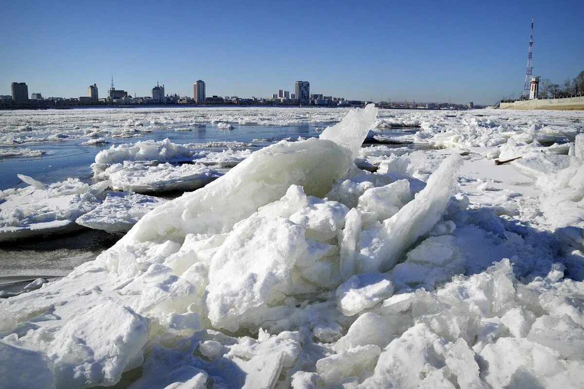
[(175, 166), (170, 163), (148, 164), (124, 162), (104, 172), (112, 189), (137, 193), (192, 191), (204, 187), (221, 176), (217, 170), (201, 163)]

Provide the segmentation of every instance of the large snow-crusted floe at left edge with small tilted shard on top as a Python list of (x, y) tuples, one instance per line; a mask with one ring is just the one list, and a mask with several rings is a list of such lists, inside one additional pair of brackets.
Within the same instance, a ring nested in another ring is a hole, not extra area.
[(78, 229), (75, 220), (99, 205), (108, 186), (73, 178), (45, 185), (18, 176), (30, 186), (0, 192), (0, 241)]

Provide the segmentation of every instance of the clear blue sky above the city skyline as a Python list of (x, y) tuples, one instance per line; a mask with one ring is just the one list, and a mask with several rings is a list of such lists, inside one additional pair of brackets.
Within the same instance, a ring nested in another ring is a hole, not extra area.
[(3, 1), (0, 94), (86, 96), (98, 84), (268, 97), (310, 81), (348, 99), (493, 103), (534, 74), (584, 70), (584, 1)]

